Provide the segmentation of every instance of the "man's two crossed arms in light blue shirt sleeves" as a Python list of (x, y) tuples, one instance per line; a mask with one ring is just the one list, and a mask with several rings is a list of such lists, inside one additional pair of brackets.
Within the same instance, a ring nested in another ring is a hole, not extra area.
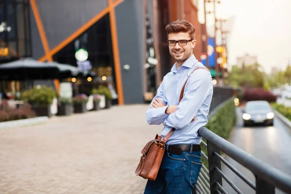
[(204, 69), (193, 73), (187, 83), (187, 90), (179, 105), (167, 105), (163, 95), (163, 82), (158, 88), (146, 111), (146, 120), (150, 125), (169, 126), (182, 129), (195, 120), (199, 108), (204, 103), (212, 88), (210, 74)]

